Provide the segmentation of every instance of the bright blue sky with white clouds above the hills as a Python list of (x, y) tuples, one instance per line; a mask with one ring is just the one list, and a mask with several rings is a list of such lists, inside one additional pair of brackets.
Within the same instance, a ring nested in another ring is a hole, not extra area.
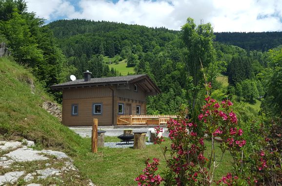
[(180, 30), (191, 17), (214, 32), (282, 31), (282, 0), (26, 0), (46, 23), (90, 19)]

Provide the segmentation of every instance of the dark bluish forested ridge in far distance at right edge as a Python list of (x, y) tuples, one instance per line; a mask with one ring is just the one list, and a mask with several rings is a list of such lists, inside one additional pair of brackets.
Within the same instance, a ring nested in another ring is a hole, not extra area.
[(239, 46), (245, 50), (268, 51), (282, 45), (282, 32), (221, 32), (216, 41)]

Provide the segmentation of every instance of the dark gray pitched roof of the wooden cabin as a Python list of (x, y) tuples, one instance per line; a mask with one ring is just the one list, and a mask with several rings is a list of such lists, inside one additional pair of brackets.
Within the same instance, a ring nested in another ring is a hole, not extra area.
[(149, 78), (146, 74), (138, 75), (126, 75), (126, 76), (116, 76), (116, 77), (101, 77), (101, 78), (91, 78), (90, 81), (84, 81), (84, 79), (78, 79), (75, 81), (69, 81), (65, 83), (60, 83), (57, 85), (50, 86), (51, 89), (64, 89), (73, 87), (84, 87), (84, 86), (99, 86), (99, 85), (116, 85), (116, 84), (127, 84), (139, 81), (146, 78), (155, 87), (157, 92), (161, 92), (157, 85)]

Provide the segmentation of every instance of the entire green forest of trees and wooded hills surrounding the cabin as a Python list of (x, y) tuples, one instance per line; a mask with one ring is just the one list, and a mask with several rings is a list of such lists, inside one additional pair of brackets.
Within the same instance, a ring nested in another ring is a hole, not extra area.
[(113, 68), (121, 63), (122, 74), (126, 68), (127, 74), (148, 74), (160, 87), (162, 94), (148, 98), (148, 114), (187, 107), (195, 117), (205, 74), (215, 98), (238, 102), (252, 114), (281, 115), (282, 32), (214, 33), (210, 23), (196, 25), (191, 18), (181, 31), (85, 19), (44, 25), (26, 8), (22, 0), (1, 0), (0, 41), (59, 102), (61, 94), (50, 85), (70, 74), (82, 78), (85, 70), (92, 77), (121, 75)]

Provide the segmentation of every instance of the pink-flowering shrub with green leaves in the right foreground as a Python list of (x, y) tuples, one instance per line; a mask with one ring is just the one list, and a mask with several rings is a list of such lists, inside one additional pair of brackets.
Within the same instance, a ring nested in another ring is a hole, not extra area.
[[(209, 86), (206, 88), (210, 89)], [(266, 178), (275, 180), (267, 183), (279, 186), (279, 181), (282, 181), (282, 179), (279, 180), (279, 176), (282, 177), (281, 148), (279, 149), (274, 145), (277, 143), (265, 136), (264, 145), (260, 146), (264, 149), (260, 151), (252, 149), (253, 152), (245, 156), (243, 148), (247, 142), (243, 137), (244, 131), (238, 126), (238, 119), (232, 111), (232, 105), (230, 100), (217, 102), (210, 96), (205, 98), (205, 105), (198, 119), (204, 124), (205, 133), (211, 138), (212, 148), (209, 152), (206, 151), (203, 136), (196, 132), (195, 122), (187, 119), (181, 122), (170, 120), (167, 123), (168, 137), (171, 140), (170, 148), (161, 147), (161, 142), (164, 141), (162, 136), (154, 142), (160, 145), (168, 170), (161, 178), (155, 175), (159, 161), (153, 165), (147, 161), (147, 167), (143, 170), (144, 174), (136, 178), (138, 185), (159, 186), (161, 182), (164, 182), (165, 186), (210, 186), (214, 183), (221, 186), (252, 186), (259, 184), (258, 180)], [(157, 134), (160, 131), (162, 131), (161, 128), (156, 128)], [(276, 133), (276, 135), (281, 134)], [(220, 160), (216, 159), (215, 155), (216, 139), (221, 140)], [(168, 151), (169, 158), (166, 156)], [(234, 172), (229, 172), (219, 181), (215, 181), (214, 171), (226, 151), (229, 151), (233, 157)]]

